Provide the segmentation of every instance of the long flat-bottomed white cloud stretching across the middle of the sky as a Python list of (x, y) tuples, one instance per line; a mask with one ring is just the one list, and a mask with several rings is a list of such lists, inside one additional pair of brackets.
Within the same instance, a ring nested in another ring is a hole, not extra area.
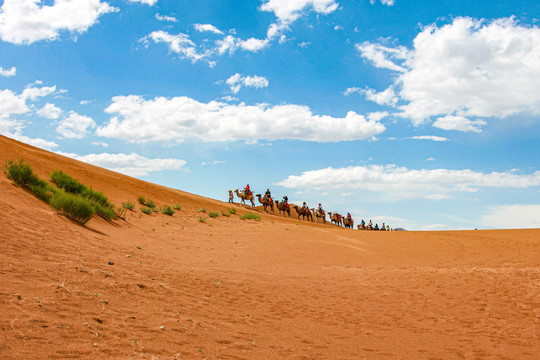
[(145, 100), (140, 96), (117, 96), (105, 110), (114, 114), (99, 127), (99, 136), (130, 142), (277, 140), (318, 142), (364, 140), (382, 133), (384, 125), (366, 120), (353, 111), (345, 118), (314, 115), (307, 106), (245, 105), (188, 97)]

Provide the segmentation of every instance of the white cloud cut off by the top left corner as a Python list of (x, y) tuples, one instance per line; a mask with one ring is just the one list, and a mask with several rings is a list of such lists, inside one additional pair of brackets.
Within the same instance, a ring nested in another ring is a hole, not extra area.
[(100, 0), (4, 0), (0, 9), (0, 38), (13, 44), (55, 40), (61, 31), (84, 33), (106, 13), (116, 8)]

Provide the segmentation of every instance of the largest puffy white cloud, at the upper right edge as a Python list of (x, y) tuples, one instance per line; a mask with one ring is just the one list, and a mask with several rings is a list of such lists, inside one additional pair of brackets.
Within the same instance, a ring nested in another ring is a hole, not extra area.
[(483, 123), (447, 116), (506, 118), (540, 113), (540, 29), (536, 26), (520, 26), (513, 18), (491, 22), (456, 18), (442, 27), (424, 28), (412, 50), (368, 42), (357, 48), (375, 66), (401, 73), (394, 84), (406, 103), (400, 107), (401, 115), (415, 125), (438, 116), (441, 126), (479, 131)]

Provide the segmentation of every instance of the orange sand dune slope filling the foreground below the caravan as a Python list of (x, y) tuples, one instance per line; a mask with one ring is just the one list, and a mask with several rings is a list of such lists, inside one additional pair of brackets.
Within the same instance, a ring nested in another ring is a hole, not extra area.
[(3, 359), (540, 358), (540, 230), (201, 223), (229, 206), (0, 137), (21, 156), (182, 210), (83, 227), (0, 174)]

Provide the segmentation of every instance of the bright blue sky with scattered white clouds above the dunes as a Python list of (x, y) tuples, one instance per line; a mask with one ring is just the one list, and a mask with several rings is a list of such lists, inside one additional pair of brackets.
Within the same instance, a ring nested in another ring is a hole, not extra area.
[(540, 227), (537, 0), (0, 4), (2, 135), (216, 199)]

